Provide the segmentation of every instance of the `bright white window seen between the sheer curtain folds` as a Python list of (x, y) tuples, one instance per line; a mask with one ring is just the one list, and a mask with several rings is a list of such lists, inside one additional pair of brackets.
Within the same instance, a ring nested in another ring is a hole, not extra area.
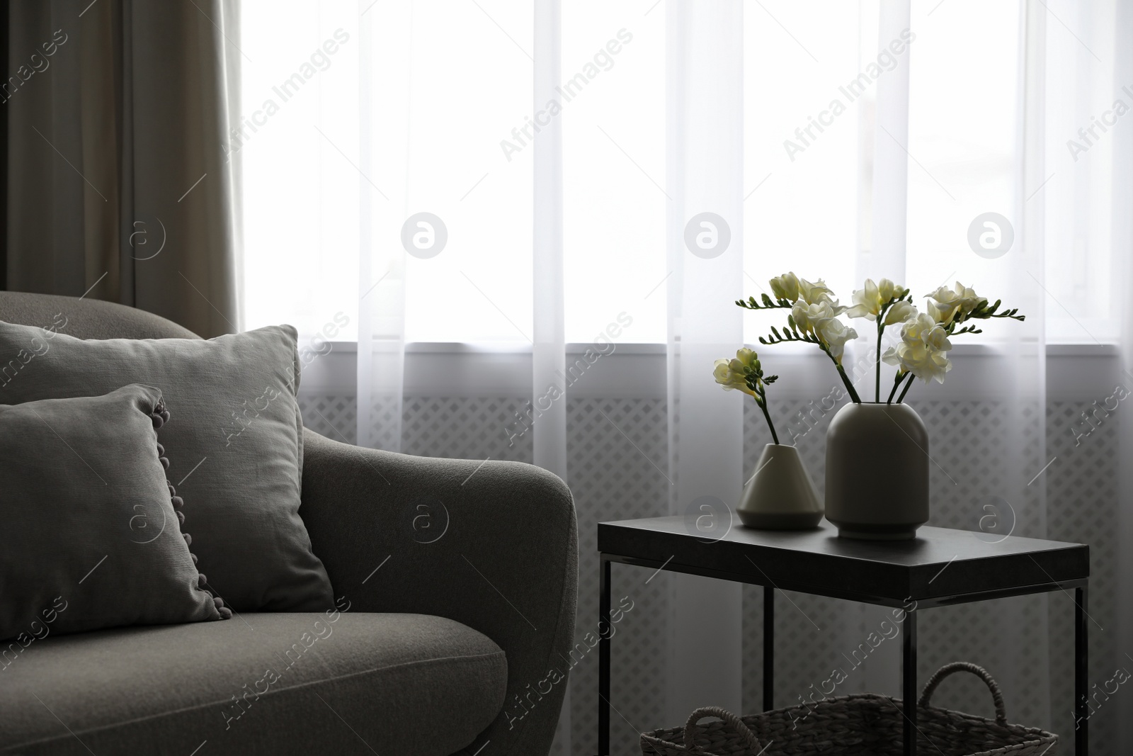
[[(877, 79), (893, 58), (879, 59), (892, 40), (878, 39), (878, 8), (744, 6), (735, 65), (744, 77), (746, 292), (758, 296), (785, 270), (825, 278), (843, 300), (859, 284), (871, 244)], [(1021, 190), (1021, 5), (913, 1), (903, 51), (906, 282), (918, 296), (956, 278), (1007, 290), (1006, 266), (972, 252), (969, 227), (999, 213), (1017, 244), (1020, 213), (1038, 196), (1048, 339), (1108, 340), (1114, 139), (1096, 129), (1087, 145), (1079, 129), (1114, 118), (1113, 66), (1100, 62), (1113, 60), (1113, 41), (1084, 31), (1104, 27), (1093, 18), (1101, 10), (1051, 9), (1068, 28), (1046, 27), (1050, 179)], [(533, 119), (555, 118), (566, 340), (591, 340), (621, 312), (633, 317), (627, 340), (665, 340), (665, 2), (563, 3), (554, 113), (531, 102), (530, 2), (246, 0), (241, 12), (244, 119), (232, 151), (244, 164), (249, 328), (286, 321), (315, 332), (341, 312), (350, 325), (339, 338), (353, 339), (359, 295), (403, 287), (408, 341), (526, 341), (531, 145), (540, 138)], [(1091, 160), (1075, 160), (1067, 141)], [(416, 226), (419, 213), (443, 223), (441, 254), (406, 254), (403, 278), (382, 280), (383, 263), (361, 281), (361, 246), (382, 260), (401, 255), (407, 221), (410, 238), (440, 232)], [(753, 341), (760, 323), (746, 322)]]

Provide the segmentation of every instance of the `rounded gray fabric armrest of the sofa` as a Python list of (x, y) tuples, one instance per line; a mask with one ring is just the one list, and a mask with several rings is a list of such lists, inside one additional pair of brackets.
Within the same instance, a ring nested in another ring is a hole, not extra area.
[(499, 755), (550, 750), (578, 591), (574, 503), (560, 478), (521, 462), (411, 457), (305, 431), (299, 513), (350, 611), (446, 617), (504, 651), (503, 711), (476, 747), (491, 739)]

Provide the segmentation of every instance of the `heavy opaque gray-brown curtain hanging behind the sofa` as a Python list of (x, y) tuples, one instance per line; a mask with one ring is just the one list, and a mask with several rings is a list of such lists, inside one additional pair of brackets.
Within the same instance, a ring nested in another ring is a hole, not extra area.
[(238, 330), (233, 0), (10, 0), (7, 288)]

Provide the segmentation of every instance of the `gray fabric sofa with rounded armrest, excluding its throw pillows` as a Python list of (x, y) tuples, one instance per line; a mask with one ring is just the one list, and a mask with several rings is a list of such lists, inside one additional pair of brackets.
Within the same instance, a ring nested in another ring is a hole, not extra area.
[[(78, 338), (197, 338), (120, 305), (0, 292), (7, 322), (60, 312)], [(309, 430), (304, 444), (299, 513), (334, 587), (334, 621), (241, 613), (5, 642), (0, 753), (548, 751), (566, 685), (548, 682), (548, 670), (569, 669), (574, 626), (566, 486), (518, 462), (477, 469), (480, 460), (361, 449)], [(450, 524), (423, 544), (403, 518), (427, 498)], [(318, 620), (329, 630), (316, 632)]]

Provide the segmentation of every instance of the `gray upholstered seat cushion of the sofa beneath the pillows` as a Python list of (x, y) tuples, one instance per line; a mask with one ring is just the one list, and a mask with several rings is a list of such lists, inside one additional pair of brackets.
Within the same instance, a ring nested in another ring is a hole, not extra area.
[(495, 643), (425, 614), (52, 636), (0, 669), (0, 753), (446, 756), (500, 714), (506, 685)]

